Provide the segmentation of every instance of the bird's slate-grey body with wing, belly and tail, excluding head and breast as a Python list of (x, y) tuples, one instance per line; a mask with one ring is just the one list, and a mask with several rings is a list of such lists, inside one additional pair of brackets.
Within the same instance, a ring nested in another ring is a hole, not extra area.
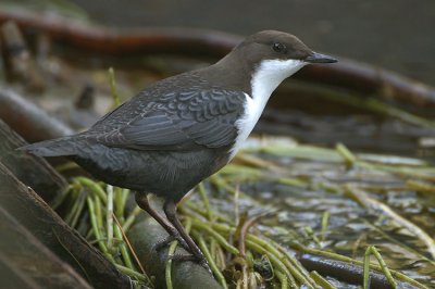
[(182, 74), (151, 85), (87, 131), (22, 150), (71, 158), (115, 186), (181, 198), (227, 163), (245, 99), (196, 72)]

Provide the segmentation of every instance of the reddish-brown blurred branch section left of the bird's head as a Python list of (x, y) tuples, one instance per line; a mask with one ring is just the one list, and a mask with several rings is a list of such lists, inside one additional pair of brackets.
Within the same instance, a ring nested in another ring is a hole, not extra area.
[(176, 53), (221, 58), (243, 39), (240, 36), (210, 29), (142, 27), (120, 30), (84, 25), (61, 17), (40, 17), (26, 12), (0, 12), (0, 23), (10, 20), (23, 29), (44, 32), (58, 42), (90, 52), (117, 55)]

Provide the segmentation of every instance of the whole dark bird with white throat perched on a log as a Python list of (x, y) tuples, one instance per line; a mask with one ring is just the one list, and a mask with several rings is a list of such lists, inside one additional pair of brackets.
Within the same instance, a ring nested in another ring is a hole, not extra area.
[[(170, 239), (207, 264), (176, 203), (233, 159), (285, 78), (309, 63), (332, 62), (290, 34), (260, 32), (211, 66), (149, 86), (87, 131), (22, 149), (69, 156), (97, 178), (136, 191), (138, 205)], [(167, 219), (149, 205), (148, 192), (164, 199)]]

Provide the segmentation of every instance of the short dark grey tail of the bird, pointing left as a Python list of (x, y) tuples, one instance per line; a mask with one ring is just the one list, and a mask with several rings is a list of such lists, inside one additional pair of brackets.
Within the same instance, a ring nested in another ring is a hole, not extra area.
[(45, 140), (26, 144), (17, 150), (26, 151), (39, 156), (62, 156), (77, 154), (77, 143), (74, 136)]

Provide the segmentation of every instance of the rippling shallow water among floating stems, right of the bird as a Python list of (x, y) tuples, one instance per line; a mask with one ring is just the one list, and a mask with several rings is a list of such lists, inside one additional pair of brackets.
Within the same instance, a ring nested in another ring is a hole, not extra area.
[[(266, 141), (263, 146), (271, 143)], [(435, 198), (407, 189), (409, 176), (361, 167), (347, 168), (334, 162), (271, 158), (269, 154), (258, 156), (282, 165), (287, 176), (308, 184), (308, 188), (278, 184), (279, 174), (276, 173), (276, 179), (272, 180), (260, 177), (260, 180), (238, 183), (237, 177), (232, 176), (235, 179), (233, 185), (239, 184), (240, 190), (256, 200), (254, 203), (240, 202), (240, 212), (250, 215), (274, 212), (259, 222), (258, 229), (262, 234), (284, 246), (296, 241), (360, 261), (363, 261), (366, 248), (375, 246), (389, 268), (426, 286), (435, 286), (434, 255), (428, 253), (423, 238), (418, 238), (413, 231), (418, 226), (432, 237), (435, 216), (431, 212), (435, 208)], [(264, 175), (268, 171), (264, 168)], [(377, 205), (357, 202), (347, 192), (348, 186), (361, 198), (375, 200)], [(234, 209), (227, 208), (225, 202), (219, 201), (214, 205), (234, 214)], [(388, 210), (394, 212), (393, 215)], [(322, 218), (325, 212), (330, 217), (324, 228)], [(412, 226), (400, 225), (401, 219), (412, 223)], [(348, 286), (337, 284), (338, 288)]]

